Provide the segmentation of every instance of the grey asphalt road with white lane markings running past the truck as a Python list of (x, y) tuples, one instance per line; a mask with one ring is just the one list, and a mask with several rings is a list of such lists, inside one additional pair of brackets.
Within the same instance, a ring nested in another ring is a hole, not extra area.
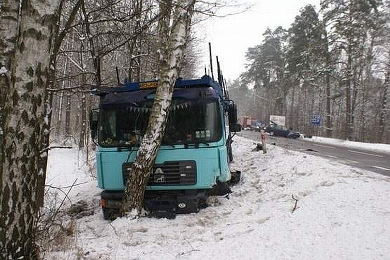
[[(255, 142), (260, 142), (260, 133), (258, 132), (243, 130), (237, 133), (237, 135), (252, 139)], [(289, 150), (338, 160), (347, 165), (390, 176), (389, 153), (360, 150), (357, 148), (335, 146), (325, 143), (315, 143), (302, 139), (267, 136), (267, 144), (272, 143)]]

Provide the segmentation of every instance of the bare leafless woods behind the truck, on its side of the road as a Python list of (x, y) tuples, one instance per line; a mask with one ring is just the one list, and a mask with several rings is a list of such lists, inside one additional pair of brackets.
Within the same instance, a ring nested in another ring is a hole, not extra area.
[[(88, 113), (98, 85), (156, 79), (156, 1), (64, 1), (60, 17), (52, 137), (88, 146)], [(192, 41), (181, 77), (193, 77)], [(64, 138), (63, 138), (64, 137)]]

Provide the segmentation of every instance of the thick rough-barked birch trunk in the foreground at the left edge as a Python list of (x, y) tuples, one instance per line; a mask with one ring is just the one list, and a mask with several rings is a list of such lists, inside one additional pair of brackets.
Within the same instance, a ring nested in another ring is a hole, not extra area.
[(35, 227), (47, 162), (46, 86), (54, 68), (58, 7), (59, 0), (1, 3), (0, 259), (39, 259)]

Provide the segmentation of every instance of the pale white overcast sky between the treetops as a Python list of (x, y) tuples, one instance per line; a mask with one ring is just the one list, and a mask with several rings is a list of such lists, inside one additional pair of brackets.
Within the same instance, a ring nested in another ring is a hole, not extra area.
[[(208, 42), (212, 44), (214, 72), (215, 56), (221, 63), (225, 79), (236, 79), (245, 71), (245, 52), (249, 47), (260, 44), (262, 34), (270, 27), (282, 26), (287, 29), (299, 15), (299, 9), (312, 4), (319, 9), (320, 0), (242, 0), (243, 4), (253, 4), (248, 11), (224, 18), (208, 19), (195, 25), (200, 38), (204, 38), (203, 60), (199, 76), (204, 74), (204, 66), (209, 64)], [(231, 10), (223, 10), (231, 12)], [(222, 13), (221, 13), (222, 14)]]

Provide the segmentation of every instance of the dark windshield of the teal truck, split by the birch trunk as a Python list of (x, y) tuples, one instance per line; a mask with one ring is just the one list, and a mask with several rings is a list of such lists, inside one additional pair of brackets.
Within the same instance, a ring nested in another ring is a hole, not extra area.
[[(153, 100), (101, 109), (101, 146), (139, 145)], [(222, 138), (222, 120), (215, 99), (173, 99), (162, 145), (208, 143)]]

